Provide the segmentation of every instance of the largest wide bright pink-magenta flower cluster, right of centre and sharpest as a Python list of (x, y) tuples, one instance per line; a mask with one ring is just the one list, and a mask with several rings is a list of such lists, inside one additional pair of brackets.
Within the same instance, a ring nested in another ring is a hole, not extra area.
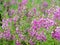
[(32, 29), (37, 30), (41, 27), (49, 29), (49, 27), (55, 25), (55, 22), (49, 18), (40, 18), (38, 21), (33, 20), (32, 22)]

